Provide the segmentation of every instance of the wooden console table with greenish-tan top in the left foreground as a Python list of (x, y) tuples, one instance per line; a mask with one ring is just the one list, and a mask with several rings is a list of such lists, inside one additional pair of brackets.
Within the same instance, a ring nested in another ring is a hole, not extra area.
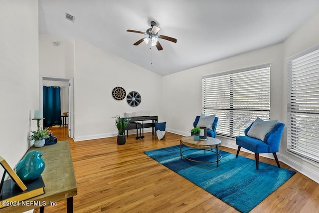
[[(73, 212), (73, 196), (77, 195), (77, 184), (74, 175), (73, 163), (68, 141), (59, 141), (54, 145), (47, 145), (40, 148), (31, 147), (30, 150), (37, 150), (42, 153), (45, 169), (42, 179), (45, 184), (45, 194), (31, 198), (28, 206), (10, 206), (0, 209), (0, 213), (25, 212), (40, 207), (40, 212), (44, 212), (41, 204), (54, 204), (66, 199), (67, 213)], [(34, 205), (32, 205), (34, 204)]]

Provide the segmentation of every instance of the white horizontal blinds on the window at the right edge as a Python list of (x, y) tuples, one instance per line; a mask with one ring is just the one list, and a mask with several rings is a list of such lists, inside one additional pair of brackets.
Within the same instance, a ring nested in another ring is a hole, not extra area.
[(319, 162), (319, 49), (288, 64), (289, 151)]

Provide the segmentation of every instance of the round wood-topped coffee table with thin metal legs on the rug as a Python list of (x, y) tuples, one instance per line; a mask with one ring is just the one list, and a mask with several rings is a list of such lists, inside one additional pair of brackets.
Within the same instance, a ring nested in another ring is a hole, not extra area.
[[(199, 140), (195, 141), (193, 136), (186, 136), (180, 139), (180, 160), (183, 158), (198, 162), (198, 163), (214, 163), (217, 162), (217, 167), (219, 167), (218, 162), (222, 159), (222, 156), (218, 153), (218, 146), (220, 146), (221, 141), (217, 138), (207, 137), (206, 141)], [(181, 151), (181, 145), (185, 145), (187, 147), (191, 147), (190, 149), (186, 149)], [(216, 149), (216, 152), (213, 151), (213, 148)], [(206, 154), (206, 151), (216, 153), (216, 160), (214, 161), (196, 161), (190, 158), (187, 158), (185, 155), (183, 155), (184, 152), (187, 152), (189, 150), (204, 150), (204, 154)]]

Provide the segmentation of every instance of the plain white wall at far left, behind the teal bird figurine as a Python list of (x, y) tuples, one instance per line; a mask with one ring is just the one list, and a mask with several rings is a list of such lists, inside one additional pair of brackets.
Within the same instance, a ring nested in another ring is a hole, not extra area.
[(31, 118), (39, 108), (38, 1), (1, 0), (0, 20), (0, 156), (14, 167), (36, 129)]

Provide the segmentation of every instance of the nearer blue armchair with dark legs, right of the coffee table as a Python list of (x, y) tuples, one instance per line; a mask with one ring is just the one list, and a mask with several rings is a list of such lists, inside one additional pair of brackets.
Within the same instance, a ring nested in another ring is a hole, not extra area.
[(280, 168), (276, 152), (279, 151), (279, 144), (281, 141), (281, 136), (284, 132), (285, 124), (277, 123), (277, 125), (266, 134), (264, 142), (247, 136), (247, 133), (252, 125), (253, 123), (251, 123), (247, 129), (245, 129), (245, 136), (236, 137), (236, 144), (238, 145), (236, 158), (238, 157), (241, 147), (254, 152), (256, 159), (256, 169), (258, 170), (259, 153), (273, 153), (276, 163)]

